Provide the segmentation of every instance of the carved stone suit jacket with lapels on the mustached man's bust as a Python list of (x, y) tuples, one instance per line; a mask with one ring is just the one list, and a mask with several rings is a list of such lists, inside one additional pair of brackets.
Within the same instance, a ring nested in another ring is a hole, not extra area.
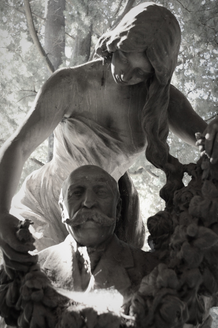
[[(38, 253), (41, 269), (46, 272), (54, 287), (84, 291), (76, 256), (77, 246), (69, 235), (59, 245)], [(94, 271), (90, 273), (87, 289), (114, 287), (126, 298), (139, 288), (142, 278), (157, 264), (152, 253), (136, 249), (113, 234)]]

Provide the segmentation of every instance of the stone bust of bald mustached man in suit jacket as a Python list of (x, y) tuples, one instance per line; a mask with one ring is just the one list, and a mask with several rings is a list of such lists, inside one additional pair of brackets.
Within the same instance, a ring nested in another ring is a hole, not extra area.
[(69, 236), (39, 252), (41, 269), (57, 288), (113, 286), (128, 299), (157, 260), (114, 234), (121, 209), (117, 182), (97, 166), (82, 166), (64, 181), (59, 205)]

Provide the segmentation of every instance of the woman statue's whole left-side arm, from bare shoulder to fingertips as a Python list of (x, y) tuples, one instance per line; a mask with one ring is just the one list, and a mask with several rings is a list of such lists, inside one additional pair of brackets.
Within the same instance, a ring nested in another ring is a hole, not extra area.
[(34, 249), (32, 243), (22, 244), (16, 238), (19, 221), (9, 214), (11, 199), (17, 189), (25, 161), (52, 133), (64, 116), (68, 106), (68, 94), (66, 70), (64, 74), (59, 70), (38, 92), (23, 124), (0, 151), (0, 247), (14, 268), (15, 262), (12, 261), (25, 263), (35, 260), (27, 253)]

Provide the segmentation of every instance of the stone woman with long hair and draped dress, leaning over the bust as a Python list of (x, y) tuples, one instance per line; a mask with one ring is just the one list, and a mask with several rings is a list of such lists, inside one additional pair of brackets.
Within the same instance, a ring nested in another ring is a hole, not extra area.
[[(99, 59), (60, 69), (43, 85), (23, 124), (1, 150), (0, 246), (9, 266), (34, 261), (27, 253), (31, 244), (16, 238), (18, 219), (12, 213), (34, 221), (31, 232), (39, 250), (65, 239), (58, 198), (62, 182), (76, 167), (97, 165), (118, 181), (146, 150), (151, 163), (175, 174), (168, 128), (195, 145), (195, 132), (207, 127), (170, 85), (180, 40), (178, 21), (170, 11), (143, 3), (100, 38)], [(52, 161), (27, 177), (9, 214), (24, 162), (54, 129)], [(167, 199), (166, 190), (162, 196)], [(135, 244), (143, 235), (142, 226), (137, 229)]]

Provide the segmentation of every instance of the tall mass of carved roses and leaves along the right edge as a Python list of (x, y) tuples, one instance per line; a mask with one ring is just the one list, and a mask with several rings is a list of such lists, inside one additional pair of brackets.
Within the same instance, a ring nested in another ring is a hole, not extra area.
[[(172, 328), (210, 321), (203, 299), (210, 297), (210, 306), (218, 292), (218, 166), (203, 154), (197, 165), (186, 170), (192, 180), (174, 193), (173, 209), (166, 213), (174, 228), (169, 260), (143, 278), (131, 301), (130, 314), (136, 317), (137, 327)], [(166, 240), (167, 223), (157, 218), (148, 221), (151, 238)], [(160, 242), (158, 248), (164, 252), (166, 244)]]

